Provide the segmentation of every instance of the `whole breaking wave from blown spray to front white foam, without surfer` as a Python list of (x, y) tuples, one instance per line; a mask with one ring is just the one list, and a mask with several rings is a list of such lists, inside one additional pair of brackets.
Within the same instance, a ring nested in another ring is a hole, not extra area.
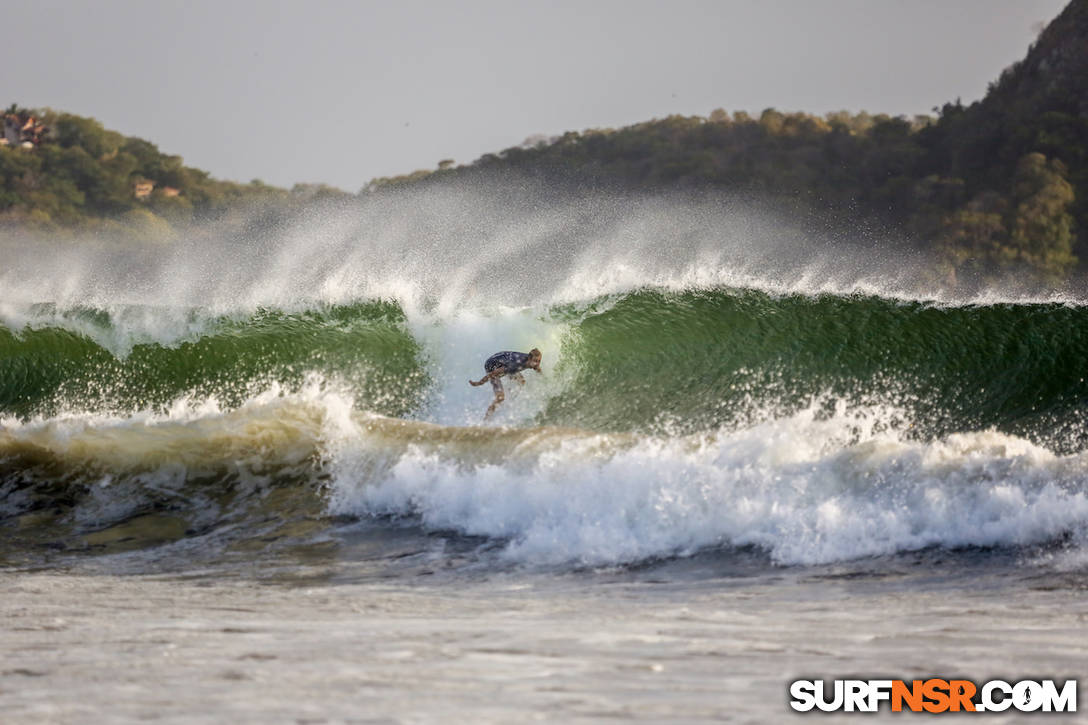
[[(737, 205), (533, 198), (9, 249), (0, 561), (344, 517), (519, 564), (1081, 546), (1076, 298), (918, 294), (908, 257), (848, 267)], [(483, 425), (466, 381), (534, 346)]]

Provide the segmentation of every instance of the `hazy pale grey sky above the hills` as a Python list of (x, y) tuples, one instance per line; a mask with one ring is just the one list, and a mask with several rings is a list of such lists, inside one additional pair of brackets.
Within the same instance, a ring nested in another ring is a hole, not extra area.
[(534, 134), (975, 100), (1064, 0), (5, 3), (4, 107), (92, 115), (213, 175), (357, 191)]

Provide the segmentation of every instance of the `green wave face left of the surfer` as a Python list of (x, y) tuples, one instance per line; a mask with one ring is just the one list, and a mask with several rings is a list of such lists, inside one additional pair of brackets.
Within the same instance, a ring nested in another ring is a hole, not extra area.
[(118, 332), (110, 315), (64, 318), (64, 327), (0, 328), (3, 414), (131, 413), (181, 397), (233, 408), (271, 384), (293, 389), (318, 373), (349, 388), (357, 406), (400, 416), (418, 407), (428, 383), (421, 348), (388, 303), (213, 319), (195, 339), (137, 342), (125, 354), (103, 343)]

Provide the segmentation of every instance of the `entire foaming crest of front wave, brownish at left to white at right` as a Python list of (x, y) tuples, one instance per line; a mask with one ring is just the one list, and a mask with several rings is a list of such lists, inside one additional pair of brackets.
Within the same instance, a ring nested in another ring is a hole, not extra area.
[(504, 539), (505, 556), (531, 565), (719, 545), (818, 564), (1063, 538), (1072, 551), (1055, 566), (1083, 563), (1088, 455), (994, 431), (919, 442), (885, 425), (903, 418), (873, 406), (827, 415), (814, 403), (742, 430), (683, 437), (458, 428), (354, 410), (349, 394), (311, 378), (234, 410), (182, 398), (161, 413), (5, 419), (0, 454), (32, 446), (88, 476), (101, 471), (101, 501), (85, 502), (83, 515), (107, 518), (109, 506), (174, 491), (209, 466), (243, 475), (289, 466), (314, 483), (331, 476), (322, 484), (331, 514), (419, 517)]

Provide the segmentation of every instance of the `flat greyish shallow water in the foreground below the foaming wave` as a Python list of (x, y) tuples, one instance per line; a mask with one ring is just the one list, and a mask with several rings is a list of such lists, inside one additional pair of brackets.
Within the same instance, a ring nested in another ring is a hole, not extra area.
[(1083, 577), (944, 574), (938, 588), (804, 570), (452, 587), (3, 572), (0, 710), (13, 724), (761, 723), (796, 716), (800, 677), (1083, 673)]

